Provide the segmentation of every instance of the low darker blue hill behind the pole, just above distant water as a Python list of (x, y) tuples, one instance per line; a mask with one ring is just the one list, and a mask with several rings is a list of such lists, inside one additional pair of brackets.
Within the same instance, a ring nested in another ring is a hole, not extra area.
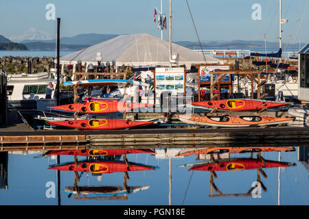
[[(33, 50), (56, 50), (56, 42), (27, 42), (24, 43), (28, 49)], [(84, 49), (89, 45), (76, 45), (76, 44), (60, 44), (60, 49)]]

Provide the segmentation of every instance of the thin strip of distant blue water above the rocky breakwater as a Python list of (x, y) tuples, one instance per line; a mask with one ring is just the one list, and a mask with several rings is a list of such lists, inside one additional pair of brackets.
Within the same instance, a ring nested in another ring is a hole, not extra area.
[[(60, 50), (60, 56), (67, 55), (69, 53), (73, 53), (76, 50)], [(43, 57), (43, 56), (53, 56), (56, 57), (56, 51), (43, 51), (43, 50), (25, 50), (25, 51), (10, 51), (10, 50), (0, 50), (0, 57), (3, 57), (5, 55), (12, 55), (14, 57), (16, 56), (29, 56), (29, 57)]]

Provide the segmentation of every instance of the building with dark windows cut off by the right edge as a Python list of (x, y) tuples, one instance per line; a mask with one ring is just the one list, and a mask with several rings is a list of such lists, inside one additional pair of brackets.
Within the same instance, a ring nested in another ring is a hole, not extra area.
[(309, 101), (309, 43), (298, 52), (298, 55), (298, 97), (300, 101)]

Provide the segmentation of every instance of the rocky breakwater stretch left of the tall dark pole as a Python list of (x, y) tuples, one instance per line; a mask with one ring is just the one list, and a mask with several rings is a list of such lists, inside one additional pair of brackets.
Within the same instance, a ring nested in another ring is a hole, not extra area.
[[(0, 69), (8, 74), (39, 73), (49, 71), (55, 66), (55, 57), (3, 56), (0, 59)], [(28, 71), (28, 66), (29, 71)]]

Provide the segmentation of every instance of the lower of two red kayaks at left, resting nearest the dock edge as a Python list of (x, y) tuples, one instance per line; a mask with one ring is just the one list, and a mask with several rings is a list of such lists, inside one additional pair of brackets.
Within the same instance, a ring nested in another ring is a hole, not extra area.
[(89, 129), (89, 130), (111, 130), (111, 129), (126, 129), (130, 127), (146, 126), (156, 121), (134, 121), (121, 120), (113, 118), (91, 118), (81, 120), (64, 120), (64, 121), (46, 121), (50, 125), (65, 126), (73, 129)]

